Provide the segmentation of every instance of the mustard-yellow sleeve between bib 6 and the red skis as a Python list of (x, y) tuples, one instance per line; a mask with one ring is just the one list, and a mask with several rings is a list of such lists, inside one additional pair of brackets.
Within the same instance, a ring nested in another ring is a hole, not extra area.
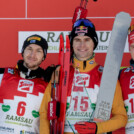
[(47, 119), (48, 102), (51, 100), (51, 82), (48, 84), (40, 107), (40, 134), (50, 134), (50, 121)]

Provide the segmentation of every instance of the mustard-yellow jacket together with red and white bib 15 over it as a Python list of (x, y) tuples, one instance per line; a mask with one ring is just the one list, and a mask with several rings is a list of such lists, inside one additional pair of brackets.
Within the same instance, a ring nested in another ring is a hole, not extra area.
[[(73, 134), (73, 131), (77, 133), (74, 128), (76, 122), (93, 121), (102, 70), (103, 67), (98, 65), (94, 58), (86, 61), (85, 67), (82, 61), (74, 59), (73, 66), (70, 67), (64, 134)], [(51, 88), (51, 84), (49, 84), (48, 88)], [(49, 95), (50, 90), (46, 90), (48, 92), (45, 92), (40, 108), (40, 134), (50, 133), (49, 122), (47, 120), (47, 105), (48, 100), (51, 99)], [(117, 82), (111, 118), (108, 121), (97, 123), (97, 134), (115, 131), (124, 127), (126, 123), (126, 110), (124, 108), (120, 84)]]

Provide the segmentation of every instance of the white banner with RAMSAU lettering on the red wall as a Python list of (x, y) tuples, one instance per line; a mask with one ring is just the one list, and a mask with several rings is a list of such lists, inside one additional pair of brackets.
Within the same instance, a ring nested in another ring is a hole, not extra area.
[[(49, 45), (48, 53), (58, 53), (60, 34), (63, 35), (65, 41), (66, 35), (68, 35), (69, 33), (69, 31), (20, 31), (18, 33), (18, 52), (21, 53), (23, 42), (28, 36), (38, 34), (47, 40)], [(110, 41), (111, 31), (97, 31), (97, 35), (99, 39), (99, 44), (95, 50), (95, 53), (106, 53)], [(126, 40), (124, 52), (129, 52), (128, 39)]]

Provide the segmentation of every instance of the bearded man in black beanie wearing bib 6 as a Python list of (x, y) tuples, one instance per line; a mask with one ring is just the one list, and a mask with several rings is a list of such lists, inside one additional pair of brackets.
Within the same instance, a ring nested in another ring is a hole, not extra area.
[[(22, 47), (23, 60), (14, 68), (0, 69), (0, 134), (39, 134), (39, 109), (48, 82), (39, 67), (48, 44), (39, 35), (29, 36)], [(49, 126), (46, 126), (46, 128)]]

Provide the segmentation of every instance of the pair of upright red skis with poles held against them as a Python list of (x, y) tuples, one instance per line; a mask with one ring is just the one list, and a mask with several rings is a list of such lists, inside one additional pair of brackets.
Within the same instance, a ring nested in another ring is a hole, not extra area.
[(55, 70), (52, 76), (52, 100), (48, 104), (51, 134), (64, 133), (70, 69), (70, 40), (68, 36), (66, 36), (66, 46), (64, 46), (63, 36), (60, 35), (59, 65), (60, 67)]

